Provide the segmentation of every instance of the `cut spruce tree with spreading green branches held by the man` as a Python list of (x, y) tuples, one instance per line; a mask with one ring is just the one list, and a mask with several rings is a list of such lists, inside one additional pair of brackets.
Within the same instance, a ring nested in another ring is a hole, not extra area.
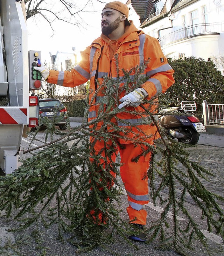
[[(146, 107), (158, 104), (159, 109), (170, 100), (156, 95), (142, 102), (141, 112), (133, 108), (119, 110), (117, 107), (123, 90), (129, 93), (148, 79), (141, 75), (147, 63), (129, 71), (123, 70), (122, 79), (119, 76), (116, 79), (106, 77), (102, 84), (98, 84), (97, 92), (85, 109), (87, 117), (90, 106), (96, 105), (96, 119), (75, 128), (70, 128), (68, 124), (67, 131), (58, 131), (47, 120), (42, 120), (47, 126), (45, 143), (40, 146), (44, 149), (38, 151), (38, 147), (35, 147), (23, 151), (29, 152), (31, 157), (22, 160), (22, 165), (14, 173), (0, 178), (0, 210), (5, 210), (8, 217), (13, 214), (14, 219), (21, 222), (19, 230), (33, 225), (37, 232), (38, 224), (46, 228), (57, 224), (59, 237), (63, 239), (64, 232), (69, 232), (72, 234), (70, 242), (80, 250), (105, 247), (106, 243), (113, 242), (114, 234), (132, 244), (127, 239), (130, 227), (119, 208), (123, 185), (118, 182), (118, 177), (122, 163), (111, 159), (113, 154), (117, 154), (117, 145), (122, 136), (127, 142), (146, 146), (143, 155), (149, 151), (152, 153), (147, 173), (150, 196), (154, 205), (159, 202), (164, 210), (155, 223), (150, 223), (149, 241), (159, 238), (161, 248), (174, 249), (183, 255), (194, 239), (207, 246), (199, 223), (186, 207), (186, 196), (193, 199), (201, 218), (206, 219), (208, 231), (224, 237), (224, 215), (219, 206), (224, 198), (208, 191), (203, 185), (211, 173), (189, 159), (189, 145), (165, 139), (154, 113), (150, 107)], [(105, 96), (96, 101), (100, 91)], [(161, 138), (156, 141), (156, 146), (140, 139), (140, 129), (130, 139), (128, 134), (134, 126), (128, 120), (130, 128), (116, 125), (114, 117), (123, 111), (142, 117), (147, 114), (148, 118), (142, 118), (141, 122), (157, 127)], [(100, 129), (97, 129), (98, 123), (101, 123)], [(37, 132), (38, 129), (30, 134), (33, 140), (37, 140)], [(56, 135), (57, 139), (54, 139)], [(94, 151), (94, 144), (99, 139), (105, 144), (109, 140), (112, 142), (110, 148), (103, 149), (106, 157)], [(71, 142), (72, 145), (68, 146)], [(139, 157), (133, 161), (138, 162)], [(116, 173), (117, 177), (111, 172)], [(156, 182), (158, 178), (159, 185)], [(163, 193), (165, 190), (168, 190), (166, 197)], [(168, 219), (168, 212), (172, 213), (172, 219)], [(185, 224), (179, 221), (180, 215), (187, 219)]]

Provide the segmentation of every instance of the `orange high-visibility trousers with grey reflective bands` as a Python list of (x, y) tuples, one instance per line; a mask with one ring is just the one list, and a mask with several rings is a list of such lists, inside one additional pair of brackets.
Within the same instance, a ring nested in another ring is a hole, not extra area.
[[(152, 145), (153, 145), (152, 140)], [(96, 155), (98, 152), (104, 148), (104, 141), (97, 140), (94, 145), (94, 150), (96, 150)], [(109, 148), (111, 142), (107, 142), (106, 146)], [(149, 168), (149, 160), (151, 153), (148, 153), (145, 157), (141, 156), (138, 163), (132, 162), (132, 159), (139, 156), (142, 152), (140, 146), (135, 146), (134, 144), (123, 144), (124, 148), (120, 151), (121, 163), (123, 165), (120, 167), (121, 179), (124, 183), (127, 199), (129, 206), (127, 207), (127, 213), (130, 219), (130, 223), (138, 223), (145, 225), (147, 212), (144, 209), (144, 205), (148, 204), (148, 177), (147, 170)], [(144, 145), (141, 145), (144, 148)], [(104, 155), (104, 151), (101, 153)], [(115, 162), (116, 155), (112, 156), (112, 161)], [(102, 163), (103, 164), (103, 163)], [(114, 173), (111, 173), (114, 176)]]

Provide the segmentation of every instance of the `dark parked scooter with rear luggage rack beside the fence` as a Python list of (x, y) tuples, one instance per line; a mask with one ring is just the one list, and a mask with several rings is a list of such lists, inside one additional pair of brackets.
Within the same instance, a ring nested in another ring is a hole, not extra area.
[[(162, 109), (158, 113), (161, 130), (167, 136), (178, 139), (179, 142), (197, 144), (200, 136), (199, 132), (205, 132), (205, 127), (192, 114), (196, 109), (195, 101), (181, 101), (180, 107)], [(184, 113), (184, 115), (181, 113)]]

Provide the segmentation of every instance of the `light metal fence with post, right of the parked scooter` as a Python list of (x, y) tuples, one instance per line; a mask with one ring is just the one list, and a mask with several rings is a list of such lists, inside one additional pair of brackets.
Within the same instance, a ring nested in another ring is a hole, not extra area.
[(224, 104), (208, 104), (204, 100), (202, 106), (204, 125), (224, 124)]

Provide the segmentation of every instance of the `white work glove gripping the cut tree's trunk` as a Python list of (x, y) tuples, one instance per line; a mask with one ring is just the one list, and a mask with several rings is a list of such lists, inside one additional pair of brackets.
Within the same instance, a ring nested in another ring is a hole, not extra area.
[(137, 88), (133, 92), (128, 93), (123, 98), (120, 99), (122, 102), (118, 109), (121, 109), (125, 106), (138, 107), (141, 104), (141, 101), (148, 96), (148, 93), (143, 88)]

